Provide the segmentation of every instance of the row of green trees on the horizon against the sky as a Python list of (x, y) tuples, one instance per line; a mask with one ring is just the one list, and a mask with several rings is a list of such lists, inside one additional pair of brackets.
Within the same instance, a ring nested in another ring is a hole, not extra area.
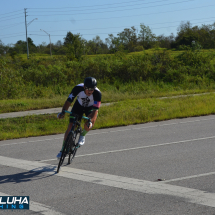
[[(117, 36), (109, 34), (105, 41), (99, 36), (92, 40), (85, 40), (80, 34), (67, 32), (64, 41), (58, 40), (51, 44), (52, 54), (67, 55), (71, 60), (79, 59), (82, 55), (111, 54), (117, 51), (136, 52), (151, 48), (186, 49), (193, 44), (203, 49), (215, 48), (215, 22), (211, 25), (192, 26), (191, 23), (182, 22), (177, 35), (156, 36), (149, 26), (140, 24), (140, 30), (132, 26), (125, 28)], [(28, 38), (30, 53), (49, 54), (50, 45), (45, 42), (36, 46)], [(19, 40), (14, 45), (5, 45), (0, 40), (0, 54), (16, 55), (27, 52), (26, 41)]]

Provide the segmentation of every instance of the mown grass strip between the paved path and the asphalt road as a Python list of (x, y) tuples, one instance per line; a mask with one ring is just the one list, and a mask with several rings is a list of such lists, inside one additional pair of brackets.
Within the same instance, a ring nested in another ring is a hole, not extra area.
[[(214, 94), (177, 99), (127, 100), (100, 108), (94, 129), (126, 126), (167, 119), (215, 113)], [(64, 133), (68, 116), (58, 120), (56, 114), (1, 119), (0, 140)]]

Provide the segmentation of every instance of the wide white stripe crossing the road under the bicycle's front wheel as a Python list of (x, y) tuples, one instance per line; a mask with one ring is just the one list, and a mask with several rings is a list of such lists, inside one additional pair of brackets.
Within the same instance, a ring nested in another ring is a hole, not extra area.
[(0, 165), (20, 168), (29, 171), (45, 172), (53, 176), (80, 180), (99, 185), (105, 185), (124, 190), (132, 190), (153, 195), (169, 195), (184, 198), (184, 201), (215, 207), (215, 194), (197, 189), (180, 187), (159, 182), (145, 181), (135, 178), (92, 172), (87, 170), (62, 167), (59, 174), (55, 174), (56, 166), (36, 161), (27, 161), (0, 156)]

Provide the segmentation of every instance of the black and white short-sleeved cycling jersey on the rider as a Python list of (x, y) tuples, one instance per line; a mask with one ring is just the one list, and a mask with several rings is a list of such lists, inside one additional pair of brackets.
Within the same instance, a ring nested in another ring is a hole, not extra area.
[(101, 105), (102, 94), (97, 87), (93, 91), (92, 95), (87, 96), (84, 92), (84, 84), (78, 84), (72, 89), (67, 101), (72, 103), (76, 96), (78, 103), (82, 107), (87, 108), (92, 106), (93, 110), (98, 110)]

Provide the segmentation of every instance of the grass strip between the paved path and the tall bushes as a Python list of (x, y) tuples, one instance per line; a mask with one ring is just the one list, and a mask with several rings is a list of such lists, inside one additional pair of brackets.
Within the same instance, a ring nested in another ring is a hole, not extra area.
[[(65, 92), (68, 92), (66, 95), (56, 96), (54, 94), (47, 94), (45, 98), (0, 100), (0, 113), (62, 107), (72, 87), (67, 86), (65, 88)], [(102, 103), (125, 101), (128, 98), (130, 100), (137, 100), (215, 91), (215, 84), (211, 84), (210, 86), (195, 84), (174, 86), (162, 82), (135, 82), (135, 84), (115, 82), (111, 85), (100, 83), (98, 87), (102, 92)], [(47, 91), (50, 92), (50, 90)]]

